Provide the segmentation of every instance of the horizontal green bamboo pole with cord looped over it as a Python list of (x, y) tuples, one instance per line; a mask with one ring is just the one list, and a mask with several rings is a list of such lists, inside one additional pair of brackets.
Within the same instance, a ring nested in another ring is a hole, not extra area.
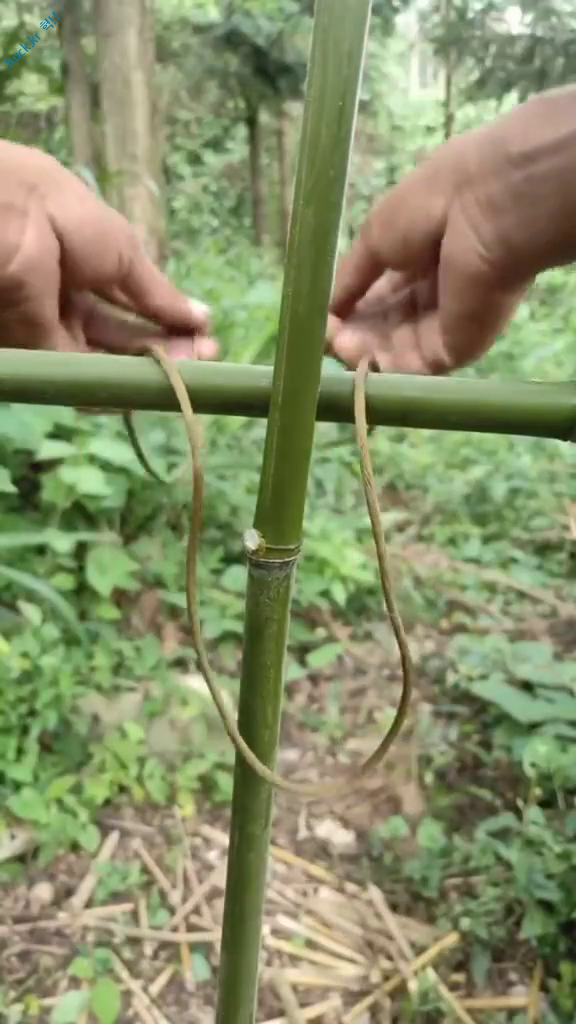
[[(199, 413), (265, 418), (272, 367), (179, 362)], [(317, 419), (353, 422), (352, 373), (325, 371)], [(469, 380), (371, 374), (372, 424), (576, 439), (576, 381)], [(162, 371), (127, 355), (0, 349), (0, 401), (82, 409), (176, 411)]]

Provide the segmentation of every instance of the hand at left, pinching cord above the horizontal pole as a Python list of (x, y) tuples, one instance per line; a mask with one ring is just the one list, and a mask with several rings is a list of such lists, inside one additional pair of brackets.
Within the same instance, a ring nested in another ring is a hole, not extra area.
[(216, 357), (208, 308), (52, 157), (0, 141), (0, 347), (131, 353), (156, 342), (174, 358)]

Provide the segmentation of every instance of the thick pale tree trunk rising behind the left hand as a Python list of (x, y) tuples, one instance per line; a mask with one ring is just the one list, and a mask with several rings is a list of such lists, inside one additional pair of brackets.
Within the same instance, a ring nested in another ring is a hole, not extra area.
[(163, 211), (151, 0), (94, 0), (94, 22), (107, 198), (159, 261)]

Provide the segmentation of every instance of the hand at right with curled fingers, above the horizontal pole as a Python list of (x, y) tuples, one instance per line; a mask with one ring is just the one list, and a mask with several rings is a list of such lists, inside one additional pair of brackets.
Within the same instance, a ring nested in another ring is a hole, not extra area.
[(535, 276), (576, 260), (576, 87), (440, 146), (374, 207), (334, 287), (349, 367), (446, 374), (478, 359)]

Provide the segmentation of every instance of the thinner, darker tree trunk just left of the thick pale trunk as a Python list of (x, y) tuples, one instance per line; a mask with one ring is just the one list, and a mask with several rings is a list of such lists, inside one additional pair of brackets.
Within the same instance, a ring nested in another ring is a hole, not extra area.
[(72, 158), (78, 168), (96, 171), (92, 95), (82, 46), (82, 3), (64, 0), (59, 24), (61, 70)]

